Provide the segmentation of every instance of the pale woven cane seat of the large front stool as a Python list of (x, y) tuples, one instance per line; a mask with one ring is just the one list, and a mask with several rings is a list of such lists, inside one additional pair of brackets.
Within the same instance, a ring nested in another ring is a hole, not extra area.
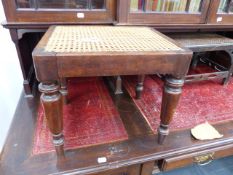
[(56, 26), (46, 52), (182, 51), (159, 32), (147, 27)]

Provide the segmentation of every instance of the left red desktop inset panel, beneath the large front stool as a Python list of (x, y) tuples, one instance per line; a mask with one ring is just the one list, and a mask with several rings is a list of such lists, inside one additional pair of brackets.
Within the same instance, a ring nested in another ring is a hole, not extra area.
[[(64, 107), (65, 149), (115, 142), (128, 138), (103, 80), (68, 81), (69, 101)], [(42, 107), (39, 109), (32, 154), (54, 151)]]

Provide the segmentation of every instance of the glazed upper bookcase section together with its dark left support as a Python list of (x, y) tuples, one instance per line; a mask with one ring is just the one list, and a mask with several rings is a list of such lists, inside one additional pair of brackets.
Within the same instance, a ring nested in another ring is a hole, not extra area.
[(17, 49), (26, 96), (33, 96), (34, 69), (30, 53), (50, 25), (146, 25), (163, 32), (232, 31), (232, 3), (227, 0), (196, 1), (195, 10), (191, 8), (193, 0), (177, 1), (185, 6), (175, 11), (137, 10), (131, 5), (133, 1), (2, 0), (6, 14), (3, 26), (10, 29)]

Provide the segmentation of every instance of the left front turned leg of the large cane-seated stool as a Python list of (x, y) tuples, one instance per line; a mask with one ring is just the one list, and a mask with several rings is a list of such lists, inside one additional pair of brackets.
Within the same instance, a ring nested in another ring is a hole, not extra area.
[(64, 156), (62, 98), (57, 83), (40, 83), (41, 102), (58, 156)]

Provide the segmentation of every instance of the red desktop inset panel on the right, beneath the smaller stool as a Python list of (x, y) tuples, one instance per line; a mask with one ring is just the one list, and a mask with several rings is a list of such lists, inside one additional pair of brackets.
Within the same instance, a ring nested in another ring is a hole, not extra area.
[[(197, 72), (208, 70), (205, 67)], [(210, 72), (211, 70), (208, 70)], [(163, 82), (157, 76), (146, 76), (144, 91), (139, 100), (135, 99), (137, 77), (125, 77), (124, 86), (154, 133), (160, 123), (160, 106)], [(171, 130), (192, 128), (208, 121), (210, 123), (233, 120), (233, 79), (227, 86), (220, 81), (204, 81), (185, 84), (182, 96), (170, 124)]]

